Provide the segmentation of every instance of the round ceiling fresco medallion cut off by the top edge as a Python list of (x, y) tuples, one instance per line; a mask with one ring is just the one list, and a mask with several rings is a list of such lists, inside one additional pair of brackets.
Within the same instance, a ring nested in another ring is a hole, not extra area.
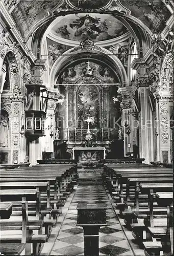
[(68, 0), (70, 4), (82, 9), (99, 9), (106, 6), (111, 0)]

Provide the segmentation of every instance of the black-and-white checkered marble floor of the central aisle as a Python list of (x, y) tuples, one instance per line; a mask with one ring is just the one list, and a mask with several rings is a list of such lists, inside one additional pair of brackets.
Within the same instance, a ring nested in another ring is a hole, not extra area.
[(77, 204), (104, 202), (107, 205), (107, 226), (99, 232), (99, 255), (134, 255), (102, 185), (79, 185), (50, 255), (84, 255), (83, 228), (77, 227)]

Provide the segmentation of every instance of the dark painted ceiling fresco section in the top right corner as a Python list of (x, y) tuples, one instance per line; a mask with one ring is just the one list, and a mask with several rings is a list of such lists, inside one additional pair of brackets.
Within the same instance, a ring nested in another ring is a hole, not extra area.
[(161, 32), (171, 13), (161, 0), (119, 0), (131, 11), (131, 15), (140, 19), (153, 33)]

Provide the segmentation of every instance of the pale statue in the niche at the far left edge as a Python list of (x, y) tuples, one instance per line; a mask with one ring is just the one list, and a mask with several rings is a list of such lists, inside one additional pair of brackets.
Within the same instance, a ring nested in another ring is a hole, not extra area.
[(0, 147), (8, 147), (8, 117), (1, 114), (1, 121), (0, 121)]

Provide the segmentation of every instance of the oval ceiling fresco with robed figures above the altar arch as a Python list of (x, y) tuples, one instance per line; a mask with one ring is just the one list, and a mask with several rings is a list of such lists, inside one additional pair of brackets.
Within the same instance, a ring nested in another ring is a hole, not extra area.
[(119, 20), (109, 14), (79, 13), (58, 17), (51, 32), (69, 40), (103, 41), (128, 32)]

